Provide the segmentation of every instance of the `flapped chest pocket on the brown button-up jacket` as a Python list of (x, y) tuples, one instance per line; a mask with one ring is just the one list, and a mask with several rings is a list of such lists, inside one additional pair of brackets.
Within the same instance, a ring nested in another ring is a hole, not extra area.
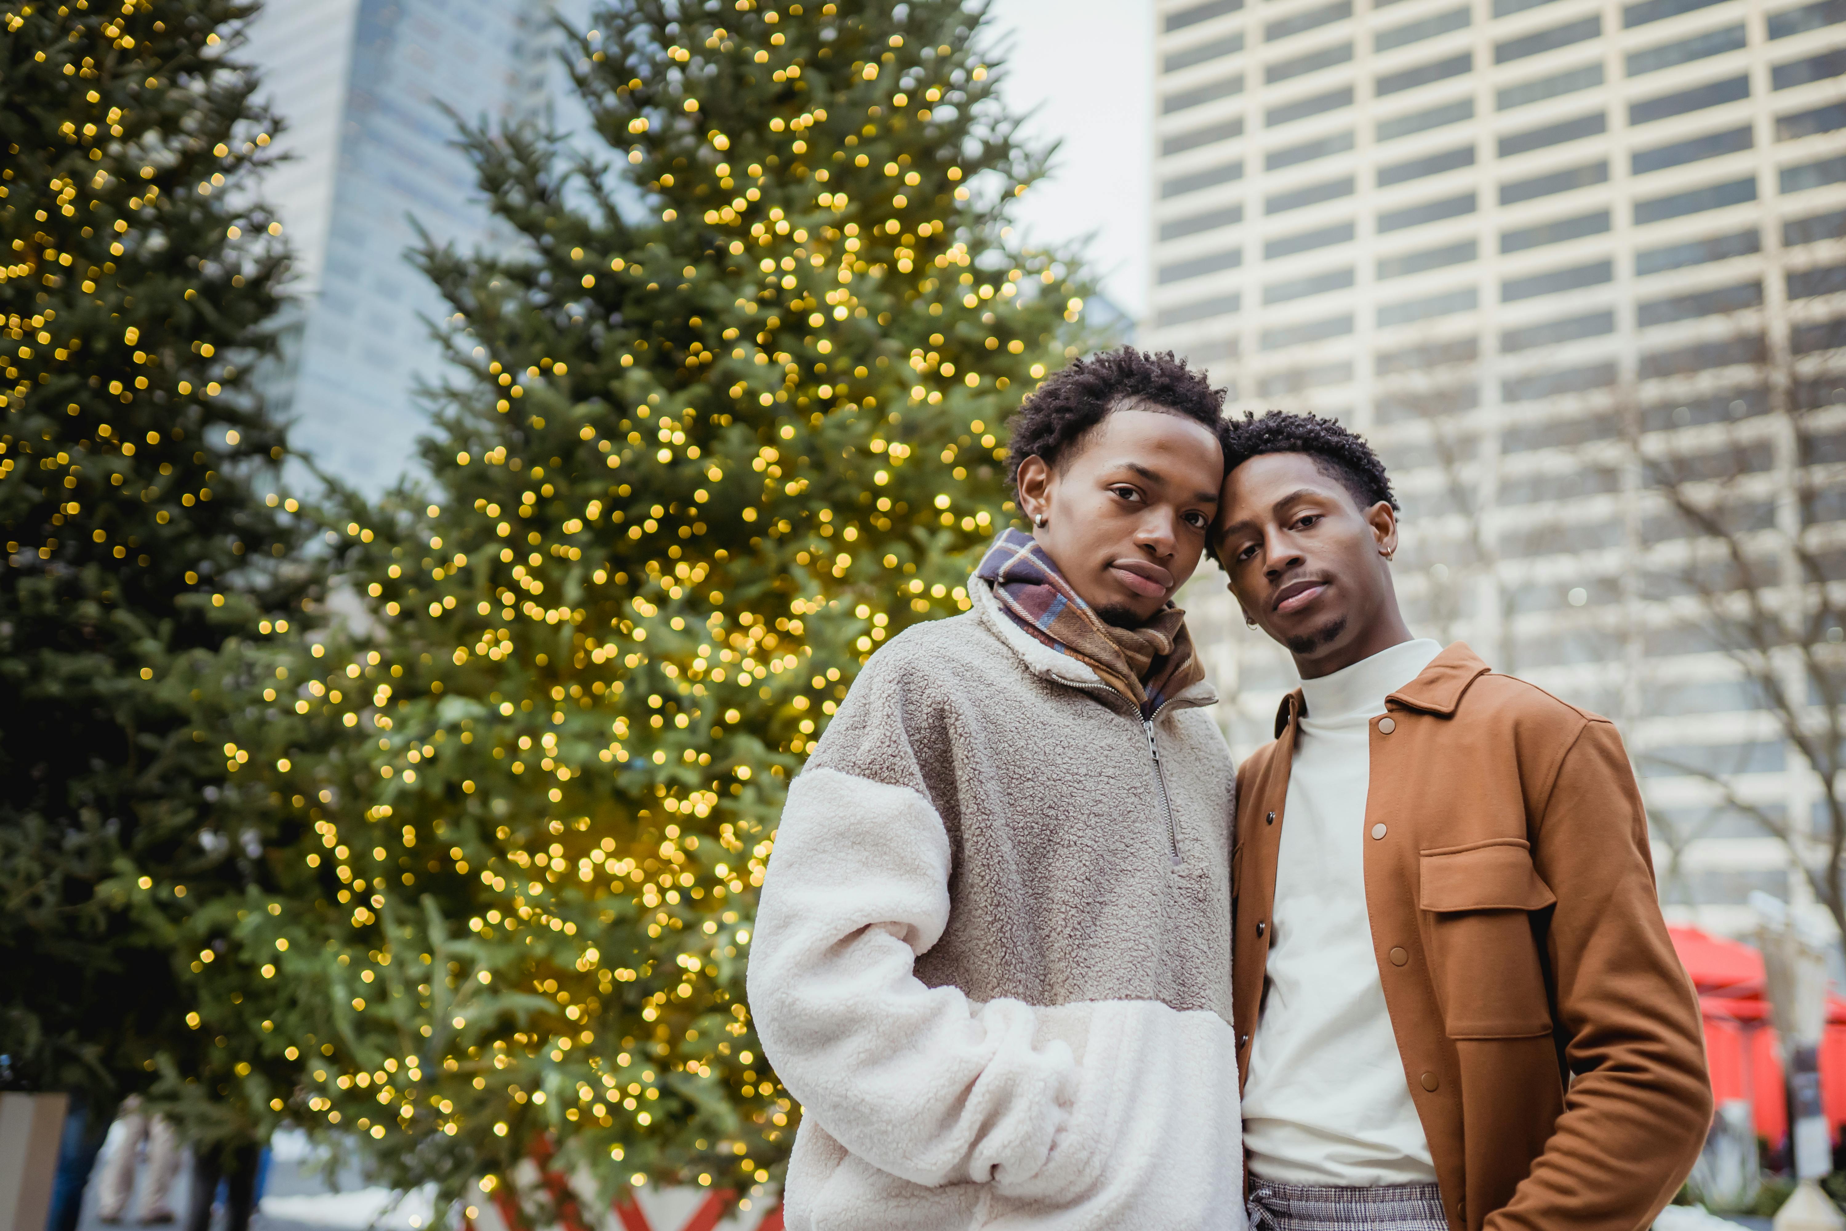
[(1420, 906), (1431, 978), (1451, 1039), (1551, 1032), (1534, 912), (1558, 899), (1521, 838), (1423, 851)]

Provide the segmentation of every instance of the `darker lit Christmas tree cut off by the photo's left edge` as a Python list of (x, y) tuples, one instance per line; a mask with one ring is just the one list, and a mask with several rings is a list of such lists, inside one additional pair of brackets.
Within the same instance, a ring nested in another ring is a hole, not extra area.
[(181, 681), (306, 585), (251, 386), (286, 253), (249, 192), (249, 11), (0, 9), (0, 1052), (96, 1109), (162, 1056), (229, 1094), (172, 945), (264, 838), (205, 821), (238, 762)]

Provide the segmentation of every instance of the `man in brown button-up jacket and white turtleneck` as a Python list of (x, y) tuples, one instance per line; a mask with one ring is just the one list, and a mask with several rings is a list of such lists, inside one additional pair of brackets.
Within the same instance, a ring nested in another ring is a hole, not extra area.
[(1229, 589), (1301, 675), (1237, 775), (1252, 1225), (1647, 1227), (1711, 1089), (1615, 727), (1412, 639), (1361, 437), (1270, 412), (1224, 460)]

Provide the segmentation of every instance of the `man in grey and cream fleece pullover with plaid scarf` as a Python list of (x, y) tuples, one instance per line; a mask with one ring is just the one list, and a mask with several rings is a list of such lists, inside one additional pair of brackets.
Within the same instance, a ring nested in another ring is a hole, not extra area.
[(871, 657), (788, 790), (749, 1002), (790, 1231), (1241, 1229), (1233, 770), (1172, 592), (1222, 393), (1117, 351), (1013, 423), (1032, 535)]

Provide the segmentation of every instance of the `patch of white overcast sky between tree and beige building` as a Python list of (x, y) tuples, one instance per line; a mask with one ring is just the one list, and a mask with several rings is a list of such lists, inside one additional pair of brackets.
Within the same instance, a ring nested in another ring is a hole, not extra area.
[(1030, 133), (1061, 140), (1052, 177), (1021, 201), (1039, 240), (1093, 234), (1104, 293), (1139, 319), (1146, 308), (1148, 175), (1154, 133), (1152, 0), (993, 0), (1012, 41), (1006, 98), (1037, 107)]

